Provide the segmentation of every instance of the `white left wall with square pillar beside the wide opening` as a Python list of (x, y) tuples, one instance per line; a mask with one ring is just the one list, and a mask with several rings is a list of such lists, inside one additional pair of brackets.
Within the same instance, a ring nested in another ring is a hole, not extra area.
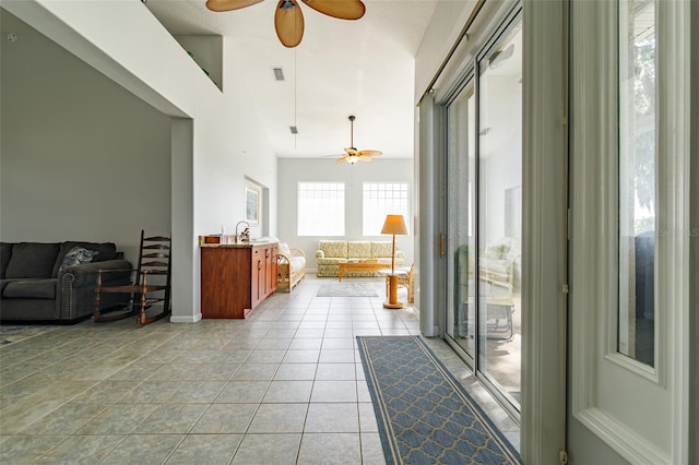
[[(271, 189), (269, 233), (276, 234), (276, 160), (240, 67), (223, 63), (222, 93), (141, 2), (22, 0), (3, 8), (159, 111), (191, 119), (178, 120), (171, 133), (178, 144), (171, 147), (171, 321), (198, 321), (198, 236), (232, 230), (242, 218), (246, 176)], [(235, 57), (235, 44), (224, 39), (223, 55)]]

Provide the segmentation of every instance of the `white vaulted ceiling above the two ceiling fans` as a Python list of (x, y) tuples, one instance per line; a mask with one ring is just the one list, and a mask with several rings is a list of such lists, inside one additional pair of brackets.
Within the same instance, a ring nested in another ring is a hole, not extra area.
[[(217, 34), (226, 40), (279, 157), (321, 157), (350, 146), (382, 158), (413, 157), (414, 57), (437, 0), (364, 0), (358, 21), (325, 16), (301, 4), (305, 33), (296, 48), (274, 32), (275, 0), (224, 13), (205, 0), (147, 0), (174, 35)], [(286, 80), (276, 82), (273, 68)], [(292, 135), (289, 126), (298, 128)]]

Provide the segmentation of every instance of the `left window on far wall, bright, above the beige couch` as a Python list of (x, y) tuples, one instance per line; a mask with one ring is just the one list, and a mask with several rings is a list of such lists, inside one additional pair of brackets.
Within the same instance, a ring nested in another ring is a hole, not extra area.
[(344, 235), (344, 182), (299, 182), (298, 236)]

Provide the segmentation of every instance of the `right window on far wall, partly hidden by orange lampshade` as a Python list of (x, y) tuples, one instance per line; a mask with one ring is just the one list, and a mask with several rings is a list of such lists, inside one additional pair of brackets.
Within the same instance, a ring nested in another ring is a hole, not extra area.
[[(379, 236), (386, 215), (403, 215), (410, 218), (407, 182), (365, 182), (363, 187), (362, 234)], [(405, 225), (410, 230), (410, 222)]]

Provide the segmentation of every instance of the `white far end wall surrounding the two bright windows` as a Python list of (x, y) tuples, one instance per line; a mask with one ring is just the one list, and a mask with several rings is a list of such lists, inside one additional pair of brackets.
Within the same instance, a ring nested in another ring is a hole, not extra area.
[[(306, 253), (306, 267), (317, 270), (316, 250), (323, 237), (297, 236), (298, 182), (331, 181), (345, 183), (345, 237), (347, 240), (391, 240), (391, 236), (362, 236), (362, 183), (363, 182), (407, 182), (413, 191), (413, 160), (408, 158), (376, 158), (369, 164), (336, 165), (333, 158), (280, 158), (279, 172), (279, 234), (283, 242), (297, 247)], [(412, 195), (414, 196), (414, 195)], [(414, 206), (411, 205), (412, 211)], [(412, 231), (411, 218), (405, 218)], [(400, 250), (405, 253), (405, 263), (414, 261), (413, 237), (396, 236)]]

